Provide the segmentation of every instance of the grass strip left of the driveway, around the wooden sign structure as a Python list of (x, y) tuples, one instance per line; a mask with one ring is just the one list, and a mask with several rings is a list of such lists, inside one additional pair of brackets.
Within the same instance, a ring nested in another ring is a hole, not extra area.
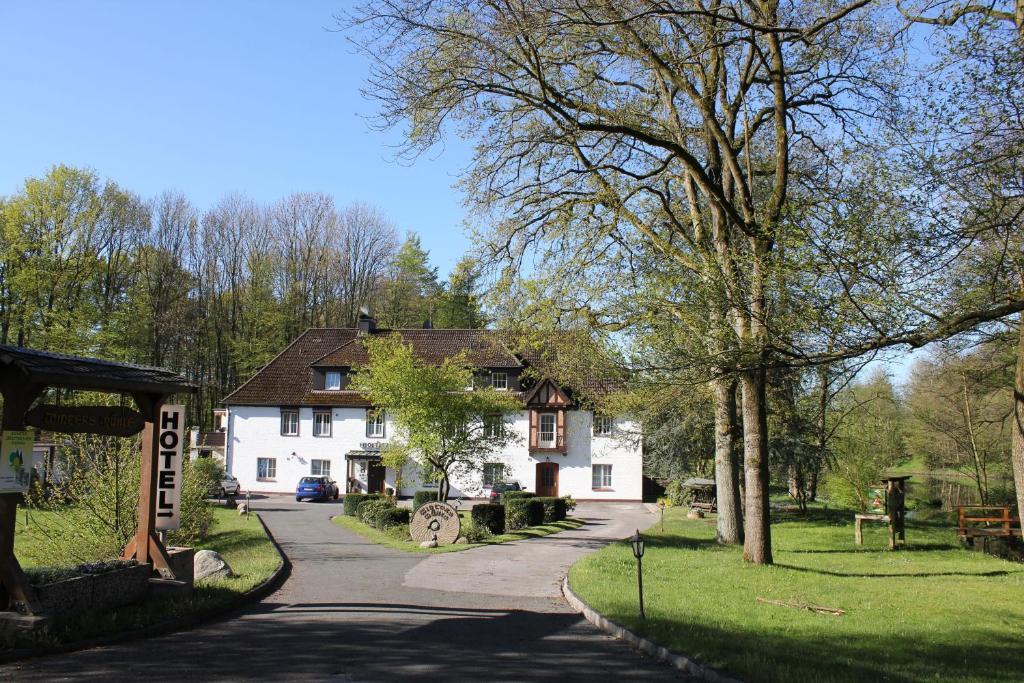
[[(241, 517), (233, 509), (224, 508), (217, 508), (214, 515), (216, 524), (213, 532), (197, 549), (209, 548), (220, 553), (234, 571), (233, 578), (197, 582), (193, 597), (187, 599), (147, 600), (102, 614), (82, 615), (35, 642), (9, 640), (0, 643), (6, 647), (17, 647), (81, 640), (141, 629), (179, 616), (202, 616), (237, 603), (244, 593), (266, 581), (276, 570), (281, 557), (255, 516)], [(18, 523), (17, 528), (14, 548), (18, 557), (39, 556), (40, 553), (33, 549), (38, 549), (45, 539), (37, 538), (32, 526), (26, 528)], [(31, 566), (26, 559), (22, 561)]]

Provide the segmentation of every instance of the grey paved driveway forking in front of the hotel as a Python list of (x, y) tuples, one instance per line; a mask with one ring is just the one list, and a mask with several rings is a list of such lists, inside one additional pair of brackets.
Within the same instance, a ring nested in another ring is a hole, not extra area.
[[(292, 561), (281, 590), (191, 631), (0, 668), (4, 680), (654, 681), (641, 657), (571, 612), (574, 559), (652, 517), (581, 506), (590, 523), (548, 539), (445, 555), (376, 546), (330, 522), (334, 504), (254, 505)], [(562, 538), (559, 538), (562, 537)]]

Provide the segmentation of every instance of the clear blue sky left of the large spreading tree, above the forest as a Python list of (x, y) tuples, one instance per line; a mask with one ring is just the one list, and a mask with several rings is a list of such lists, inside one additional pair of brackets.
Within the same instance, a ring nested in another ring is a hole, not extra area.
[(446, 273), (466, 251), (458, 140), (393, 161), (366, 59), (332, 32), (346, 0), (0, 3), (0, 195), (66, 163), (200, 208), (325, 191), (416, 230)]

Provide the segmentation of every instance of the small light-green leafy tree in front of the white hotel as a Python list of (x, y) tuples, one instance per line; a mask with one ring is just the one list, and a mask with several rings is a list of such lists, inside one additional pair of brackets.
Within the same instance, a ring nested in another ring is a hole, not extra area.
[(404, 451), (438, 482), (438, 500), (447, 500), (454, 476), (482, 472), (483, 463), (517, 439), (507, 424), (521, 409), (517, 399), (489, 387), (467, 391), (473, 370), (464, 357), (423, 364), (398, 335), (360, 343), (369, 362), (356, 371), (352, 387), (394, 421), (389, 457)]

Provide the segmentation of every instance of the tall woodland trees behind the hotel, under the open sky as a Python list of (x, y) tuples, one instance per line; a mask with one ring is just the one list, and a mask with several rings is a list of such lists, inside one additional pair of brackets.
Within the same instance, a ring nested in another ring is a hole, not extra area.
[(54, 166), (0, 197), (0, 343), (159, 366), (196, 382), (191, 424), (309, 327), (477, 328), (478, 272), (446, 281), (375, 208), (296, 193), (203, 211)]

